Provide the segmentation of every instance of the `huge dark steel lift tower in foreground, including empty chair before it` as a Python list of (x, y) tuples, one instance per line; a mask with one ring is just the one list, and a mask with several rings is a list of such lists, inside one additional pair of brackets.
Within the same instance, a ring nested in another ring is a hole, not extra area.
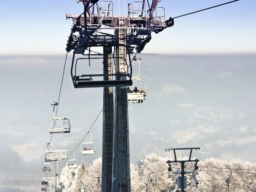
[[(102, 192), (131, 192), (127, 98), (127, 87), (132, 85), (130, 53), (134, 48), (140, 53), (151, 40), (151, 32), (161, 32), (174, 22), (172, 18), (165, 20), (165, 9), (157, 7), (160, 0), (152, 0), (151, 5), (149, 0), (131, 2), (128, 15), (125, 0), (118, 0), (118, 7), (109, 0), (77, 2), (84, 5), (84, 12), (66, 15), (73, 19), (66, 50), (74, 50), (71, 77), (75, 88), (104, 87)], [(98, 64), (97, 59), (103, 60), (103, 74), (84, 74), (86, 66)]]

